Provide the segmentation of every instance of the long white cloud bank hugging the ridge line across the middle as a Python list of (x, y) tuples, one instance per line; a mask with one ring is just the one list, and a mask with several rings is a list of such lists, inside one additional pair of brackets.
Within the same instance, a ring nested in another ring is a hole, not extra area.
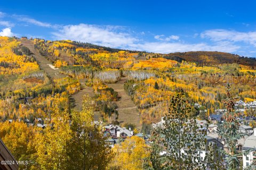
[(213, 45), (206, 43), (187, 44), (187, 43), (170, 43), (171, 39), (178, 40), (178, 36), (165, 37), (164, 35), (155, 36), (160, 42), (145, 42), (144, 40), (134, 38), (131, 33), (127, 33), (123, 27), (114, 27), (111, 25), (66, 25), (53, 32), (54, 39), (76, 40), (84, 43), (92, 43), (101, 46), (112, 48), (141, 50), (155, 53), (173, 53), (173, 52), (188, 52), (188, 51), (221, 51), (233, 53), (240, 46), (234, 45), (229, 41), (218, 41)]

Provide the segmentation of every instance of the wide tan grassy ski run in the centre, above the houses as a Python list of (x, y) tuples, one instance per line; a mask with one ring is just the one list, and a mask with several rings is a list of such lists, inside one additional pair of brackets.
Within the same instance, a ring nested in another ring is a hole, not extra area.
[(116, 92), (118, 92), (118, 96), (121, 97), (120, 100), (115, 102), (118, 106), (118, 121), (133, 123), (137, 127), (140, 127), (141, 125), (139, 111), (131, 100), (131, 97), (128, 96), (124, 91), (124, 83), (126, 80), (127, 78), (121, 78), (121, 80), (119, 80), (117, 83), (107, 84), (107, 86), (113, 88)]

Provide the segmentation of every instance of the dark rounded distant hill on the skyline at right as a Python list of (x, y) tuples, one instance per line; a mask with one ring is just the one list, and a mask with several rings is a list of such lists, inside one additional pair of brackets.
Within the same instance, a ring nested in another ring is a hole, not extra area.
[(218, 65), (218, 64), (243, 64), (256, 66), (256, 58), (239, 56), (236, 54), (223, 52), (185, 52), (185, 53), (170, 53), (164, 55), (164, 58), (176, 61), (195, 62), (199, 65)]

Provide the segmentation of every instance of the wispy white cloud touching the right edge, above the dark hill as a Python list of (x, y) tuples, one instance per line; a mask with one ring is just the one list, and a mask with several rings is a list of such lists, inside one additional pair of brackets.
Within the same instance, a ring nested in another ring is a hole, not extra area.
[(243, 41), (256, 46), (256, 31), (254, 32), (239, 32), (234, 30), (213, 29), (206, 30), (201, 33), (202, 38), (210, 38), (213, 41)]

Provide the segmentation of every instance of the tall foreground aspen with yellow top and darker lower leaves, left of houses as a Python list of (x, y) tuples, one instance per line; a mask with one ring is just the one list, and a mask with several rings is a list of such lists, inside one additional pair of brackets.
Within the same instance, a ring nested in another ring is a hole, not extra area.
[(106, 169), (111, 155), (105, 144), (101, 123), (94, 123), (91, 99), (84, 96), (81, 112), (71, 112), (72, 139), (68, 145), (71, 162), (69, 169)]

